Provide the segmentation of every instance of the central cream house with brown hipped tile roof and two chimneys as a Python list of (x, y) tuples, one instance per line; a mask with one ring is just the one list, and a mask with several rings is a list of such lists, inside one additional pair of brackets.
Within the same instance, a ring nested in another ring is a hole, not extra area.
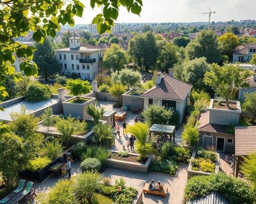
[(192, 85), (175, 79), (173, 69), (169, 69), (169, 75), (158, 72), (156, 74), (156, 85), (147, 90), (140, 97), (143, 98), (143, 109), (151, 104), (159, 104), (167, 109), (179, 111), (180, 123), (182, 123), (187, 105), (190, 104), (190, 91)]

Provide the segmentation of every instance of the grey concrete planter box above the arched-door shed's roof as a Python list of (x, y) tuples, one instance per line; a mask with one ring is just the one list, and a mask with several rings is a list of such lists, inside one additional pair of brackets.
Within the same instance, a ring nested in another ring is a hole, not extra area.
[[(225, 102), (225, 100), (220, 100), (221, 102)], [(209, 105), (209, 123), (212, 124), (220, 124), (227, 125), (229, 124), (238, 124), (239, 123), (239, 115), (241, 114), (241, 106), (239, 101), (228, 101), (229, 103), (236, 104), (237, 110), (224, 110), (213, 108), (213, 103), (218, 102), (217, 99), (211, 99)]]

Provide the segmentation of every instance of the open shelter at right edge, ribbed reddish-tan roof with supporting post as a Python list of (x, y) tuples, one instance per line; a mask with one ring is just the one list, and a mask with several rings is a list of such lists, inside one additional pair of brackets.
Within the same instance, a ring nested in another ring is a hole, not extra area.
[(238, 177), (239, 165), (243, 161), (242, 156), (256, 150), (256, 126), (235, 127), (235, 162), (233, 176)]

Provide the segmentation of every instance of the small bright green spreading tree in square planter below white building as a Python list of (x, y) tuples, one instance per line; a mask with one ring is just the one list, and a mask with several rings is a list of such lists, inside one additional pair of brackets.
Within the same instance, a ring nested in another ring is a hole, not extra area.
[(68, 79), (66, 88), (70, 90), (70, 93), (80, 100), (81, 94), (90, 93), (92, 86), (89, 81), (82, 81), (81, 79)]

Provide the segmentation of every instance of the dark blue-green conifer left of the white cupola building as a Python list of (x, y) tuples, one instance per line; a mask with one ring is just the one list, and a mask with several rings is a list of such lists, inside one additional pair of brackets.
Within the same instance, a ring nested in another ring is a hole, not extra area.
[(37, 64), (39, 74), (47, 81), (49, 75), (60, 71), (57, 54), (49, 38), (45, 38), (43, 44), (35, 43), (35, 48), (37, 50), (34, 52), (33, 60)]

